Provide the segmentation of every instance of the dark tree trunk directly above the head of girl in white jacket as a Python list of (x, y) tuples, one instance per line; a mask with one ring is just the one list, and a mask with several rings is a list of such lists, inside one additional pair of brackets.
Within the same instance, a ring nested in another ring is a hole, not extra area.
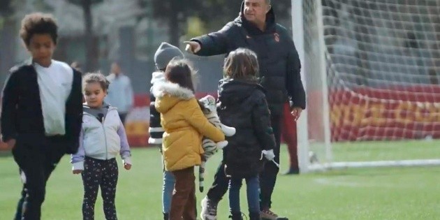
[(82, 0), (85, 22), (86, 63), (84, 71), (95, 71), (98, 64), (98, 43), (94, 43), (93, 20), (91, 17), (91, 0)]

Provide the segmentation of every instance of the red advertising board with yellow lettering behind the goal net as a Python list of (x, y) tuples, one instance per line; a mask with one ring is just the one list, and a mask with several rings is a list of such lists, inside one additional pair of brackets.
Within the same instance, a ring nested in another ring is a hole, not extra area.
[(440, 138), (440, 87), (330, 91), (333, 141)]

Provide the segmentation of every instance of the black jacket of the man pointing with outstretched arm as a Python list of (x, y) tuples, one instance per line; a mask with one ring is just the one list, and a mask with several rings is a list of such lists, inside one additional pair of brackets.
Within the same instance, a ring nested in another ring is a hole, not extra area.
[(288, 31), (275, 22), (272, 9), (266, 15), (266, 29), (261, 31), (244, 18), (244, 2), (240, 15), (220, 31), (191, 39), (200, 43), (196, 54), (212, 56), (228, 54), (239, 47), (256, 52), (260, 66), (261, 85), (266, 90), (271, 113), (282, 114), (288, 101), (293, 107), (305, 109), (305, 91), (300, 77), (300, 59)]

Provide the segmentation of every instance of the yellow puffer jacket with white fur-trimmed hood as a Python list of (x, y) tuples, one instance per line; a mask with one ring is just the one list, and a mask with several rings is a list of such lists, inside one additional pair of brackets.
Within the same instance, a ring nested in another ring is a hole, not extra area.
[(165, 169), (182, 170), (200, 165), (203, 135), (215, 142), (225, 140), (225, 135), (208, 122), (190, 89), (163, 82), (154, 85), (152, 92), (165, 130), (162, 143)]

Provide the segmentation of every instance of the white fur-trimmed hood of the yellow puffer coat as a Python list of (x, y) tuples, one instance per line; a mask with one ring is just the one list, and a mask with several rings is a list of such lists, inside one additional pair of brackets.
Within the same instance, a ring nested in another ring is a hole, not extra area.
[(184, 87), (180, 87), (176, 83), (161, 82), (156, 83), (152, 89), (156, 102), (154, 106), (161, 113), (168, 112), (179, 101), (188, 101), (195, 98), (193, 91)]

